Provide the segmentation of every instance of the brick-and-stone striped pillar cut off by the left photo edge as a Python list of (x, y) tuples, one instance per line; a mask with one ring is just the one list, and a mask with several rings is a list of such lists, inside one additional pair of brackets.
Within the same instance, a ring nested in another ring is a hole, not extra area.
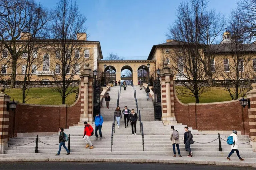
[(4, 94), (5, 88), (0, 87), (0, 154), (3, 154), (8, 144), (9, 111), (7, 109), (10, 96)]

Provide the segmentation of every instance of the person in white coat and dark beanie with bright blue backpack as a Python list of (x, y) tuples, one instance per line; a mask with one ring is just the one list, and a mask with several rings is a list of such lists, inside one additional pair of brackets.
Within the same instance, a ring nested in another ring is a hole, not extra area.
[(244, 158), (241, 158), (241, 156), (239, 155), (239, 150), (238, 150), (238, 137), (237, 137), (237, 131), (236, 130), (232, 130), (232, 134), (230, 134), (228, 136), (228, 139), (227, 139), (227, 143), (229, 145), (231, 145), (231, 152), (229, 153), (227, 159), (229, 161), (231, 161), (230, 159), (230, 156), (236, 151), (236, 154), (239, 158), (240, 161), (243, 161)]

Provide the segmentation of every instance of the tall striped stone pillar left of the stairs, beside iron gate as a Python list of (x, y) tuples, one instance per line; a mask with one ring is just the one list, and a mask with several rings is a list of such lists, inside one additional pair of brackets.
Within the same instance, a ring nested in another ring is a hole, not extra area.
[(80, 123), (92, 121), (92, 74), (89, 64), (81, 72), (81, 116)]

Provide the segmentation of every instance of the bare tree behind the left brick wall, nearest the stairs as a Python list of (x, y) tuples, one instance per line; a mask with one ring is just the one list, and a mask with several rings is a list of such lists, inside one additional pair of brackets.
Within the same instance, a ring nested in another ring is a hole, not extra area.
[[(76, 89), (77, 85), (71, 86), (75, 76), (79, 74), (85, 62), (91, 57), (86, 55), (88, 54), (86, 42), (81, 40), (86, 32), (86, 17), (80, 13), (76, 2), (60, 0), (54, 15), (55, 18), (51, 26), (54, 43), (51, 43), (51, 48), (56, 57), (52, 57), (54, 64), (50, 67), (51, 70), (55, 70), (53, 73), (53, 79), (56, 81), (54, 90), (60, 93), (62, 104), (65, 104), (66, 97)], [(49, 58), (48, 55), (44, 57), (47, 60)]]

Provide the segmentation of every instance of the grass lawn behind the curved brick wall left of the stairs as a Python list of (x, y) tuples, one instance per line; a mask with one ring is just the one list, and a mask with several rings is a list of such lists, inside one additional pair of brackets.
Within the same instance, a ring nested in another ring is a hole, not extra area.
[[(78, 88), (78, 87), (77, 87)], [(6, 89), (5, 94), (11, 96), (10, 100), (19, 101), (22, 103), (22, 90), (21, 88)], [(75, 93), (69, 94), (65, 100), (67, 105), (71, 105), (75, 102)], [(52, 88), (31, 88), (27, 95), (27, 99), (34, 97), (26, 102), (26, 104), (40, 104), (40, 105), (60, 105), (62, 104), (61, 96), (58, 92)]]

